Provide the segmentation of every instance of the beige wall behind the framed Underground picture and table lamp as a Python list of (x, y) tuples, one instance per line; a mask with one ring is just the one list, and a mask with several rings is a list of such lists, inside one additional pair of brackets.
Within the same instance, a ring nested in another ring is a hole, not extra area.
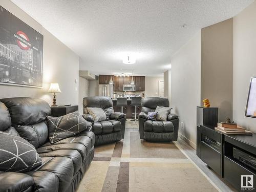
[(0, 84), (0, 98), (37, 97), (51, 104), (52, 94), (47, 91), (51, 82), (57, 82), (62, 92), (57, 94), (57, 104), (78, 104), (78, 84), (75, 79), (78, 79), (79, 57), (11, 1), (1, 0), (1, 6), (44, 35), (44, 77), (43, 88)]

